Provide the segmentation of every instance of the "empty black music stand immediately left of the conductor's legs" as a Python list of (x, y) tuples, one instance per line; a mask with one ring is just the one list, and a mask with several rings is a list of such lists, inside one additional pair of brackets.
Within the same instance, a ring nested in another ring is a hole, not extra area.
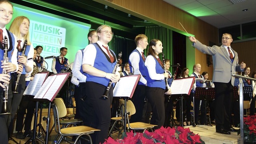
[[(204, 100), (204, 101), (212, 101), (212, 100), (214, 100), (214, 98), (215, 98), (214, 88), (212, 88), (212, 87), (196, 87), (195, 99)], [(207, 122), (206, 102), (205, 102), (205, 122)], [(211, 122), (209, 122), (209, 123), (210, 123), (210, 126), (212, 126)]]

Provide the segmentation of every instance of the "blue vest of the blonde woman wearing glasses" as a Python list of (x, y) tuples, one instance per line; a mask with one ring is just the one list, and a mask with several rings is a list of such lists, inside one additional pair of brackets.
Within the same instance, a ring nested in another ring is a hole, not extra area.
[[(113, 69), (116, 65), (116, 55), (115, 55), (114, 51), (112, 51), (110, 49), (110, 52), (112, 53), (112, 55), (114, 57), (114, 62), (111, 63), (109, 56), (100, 48), (98, 43), (92, 43), (92, 45), (94, 45), (95, 48), (96, 48), (96, 59), (94, 61), (94, 67), (96, 69), (99, 69), (99, 70), (104, 71), (106, 73), (112, 73)], [(96, 76), (93, 76), (93, 75), (89, 75), (88, 73), (86, 73), (85, 75), (86, 75), (86, 81), (92, 81), (92, 82), (95, 82), (95, 83), (99, 83), (99, 84), (104, 85), (106, 87), (108, 86), (108, 83), (110, 81), (107, 78), (96, 77)]]

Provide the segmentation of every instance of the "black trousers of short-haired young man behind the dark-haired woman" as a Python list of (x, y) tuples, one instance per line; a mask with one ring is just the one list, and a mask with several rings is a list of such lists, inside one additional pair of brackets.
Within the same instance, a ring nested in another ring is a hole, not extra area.
[(137, 85), (132, 97), (132, 103), (136, 108), (136, 113), (131, 116), (130, 122), (142, 122), (145, 97), (146, 97), (146, 86)]

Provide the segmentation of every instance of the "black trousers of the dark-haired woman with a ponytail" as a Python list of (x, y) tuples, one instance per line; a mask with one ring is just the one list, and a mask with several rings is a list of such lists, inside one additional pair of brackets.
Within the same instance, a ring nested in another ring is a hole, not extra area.
[[(154, 129), (158, 129), (164, 125), (164, 89), (158, 87), (146, 87), (146, 95), (148, 102), (152, 107), (152, 118), (150, 124), (156, 124)], [(137, 109), (136, 109), (137, 110)]]

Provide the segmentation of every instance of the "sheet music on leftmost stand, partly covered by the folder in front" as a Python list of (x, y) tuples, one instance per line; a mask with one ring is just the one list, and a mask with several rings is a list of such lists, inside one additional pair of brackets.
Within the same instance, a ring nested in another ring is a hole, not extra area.
[(49, 73), (37, 73), (33, 81), (29, 82), (28, 87), (24, 91), (24, 95), (36, 95), (48, 74)]

